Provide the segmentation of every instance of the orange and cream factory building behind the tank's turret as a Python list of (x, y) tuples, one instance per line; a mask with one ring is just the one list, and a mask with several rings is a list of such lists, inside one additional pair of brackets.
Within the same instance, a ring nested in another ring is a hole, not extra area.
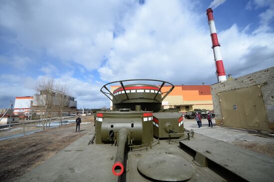
[[(111, 86), (113, 92), (120, 86)], [(171, 86), (164, 86), (161, 92), (166, 92)], [(177, 108), (182, 112), (194, 109), (213, 110), (210, 86), (175, 86), (173, 91), (162, 101), (164, 109)], [(110, 108), (112, 109), (112, 101)]]

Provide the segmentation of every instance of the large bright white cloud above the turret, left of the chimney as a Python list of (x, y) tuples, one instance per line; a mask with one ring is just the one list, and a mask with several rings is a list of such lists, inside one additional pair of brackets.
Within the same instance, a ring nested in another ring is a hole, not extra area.
[(99, 69), (101, 79), (150, 78), (181, 84), (188, 82), (181, 76), (187, 76), (203, 82), (199, 70), (214, 69), (214, 62), (209, 32), (200, 25), (201, 15), (192, 13), (179, 1), (147, 1), (114, 40), (108, 62)]

